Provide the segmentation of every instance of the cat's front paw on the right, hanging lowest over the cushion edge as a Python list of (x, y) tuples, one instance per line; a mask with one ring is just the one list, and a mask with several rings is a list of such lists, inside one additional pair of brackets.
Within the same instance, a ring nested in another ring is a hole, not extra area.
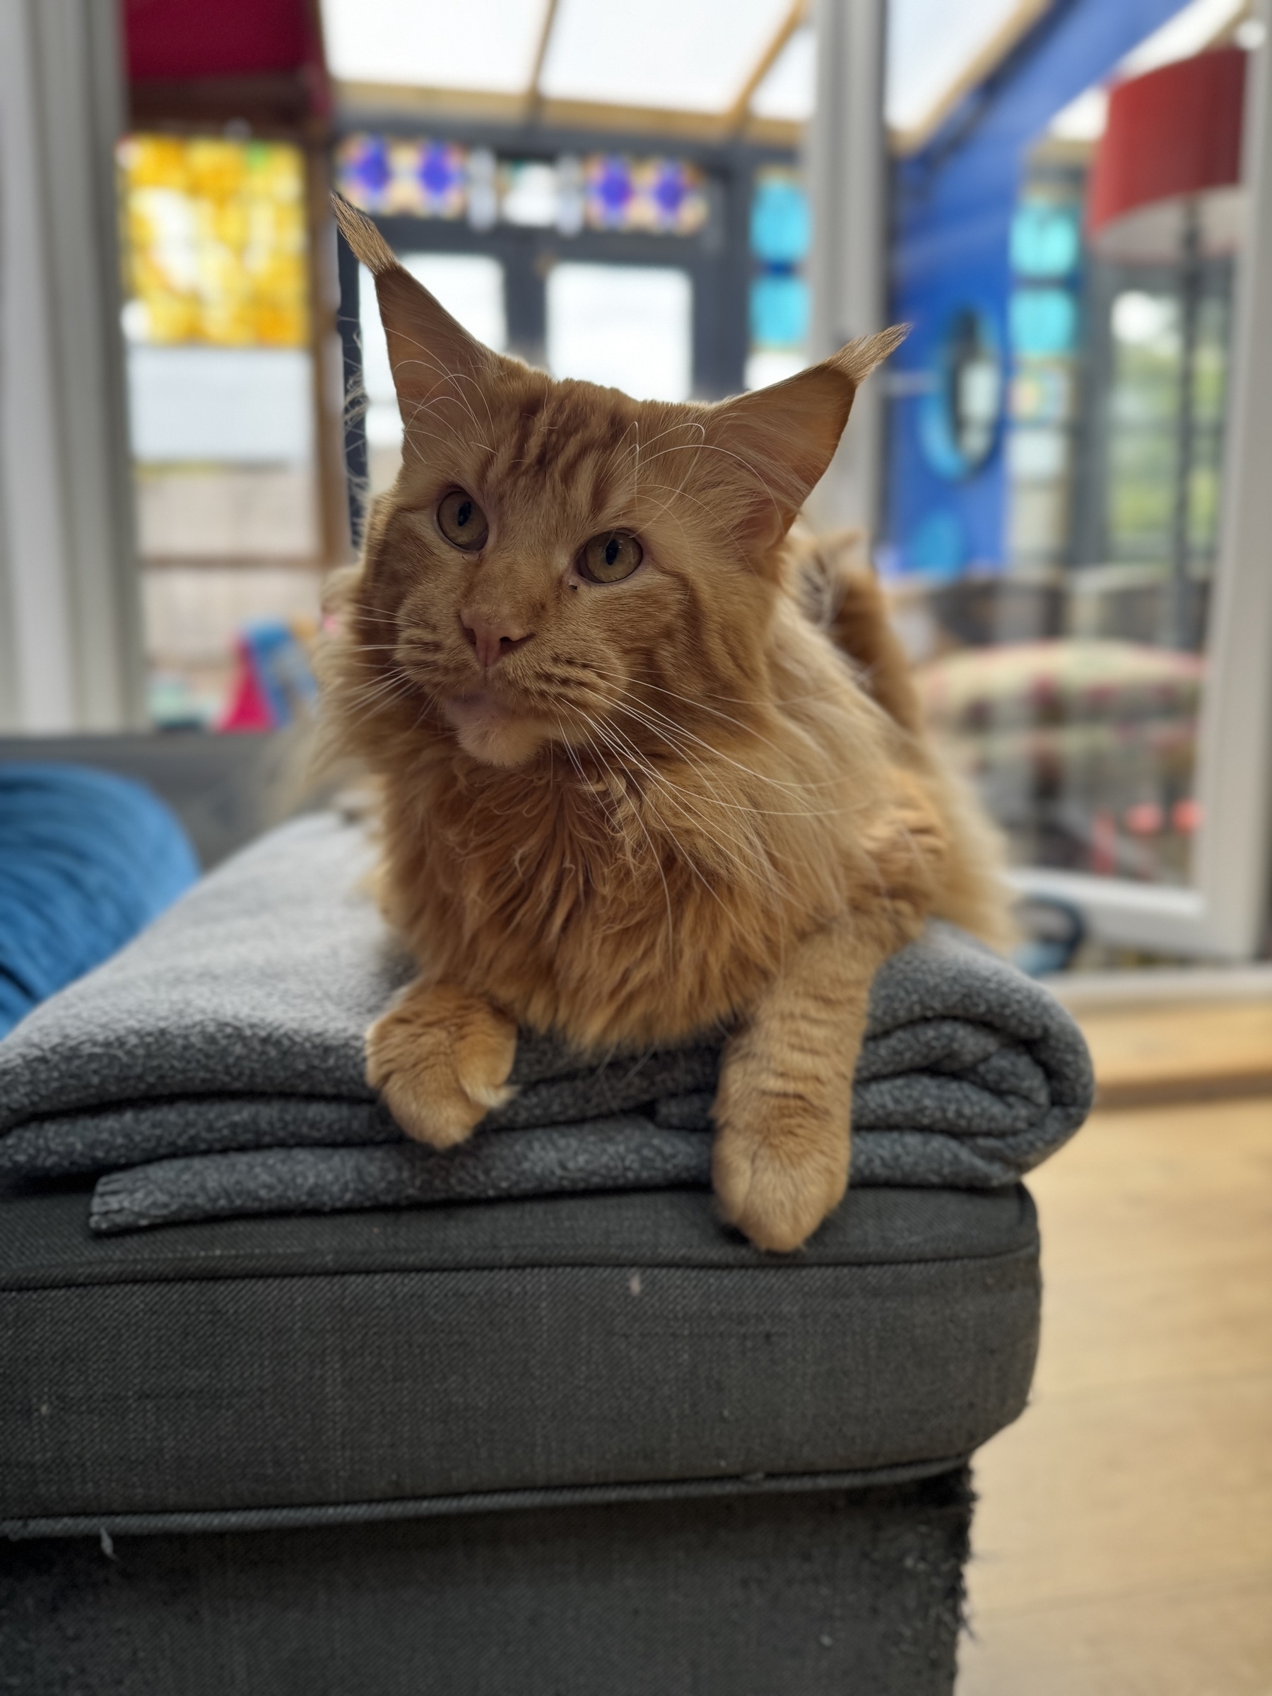
[(729, 1225), (756, 1248), (790, 1253), (843, 1201), (848, 1114), (763, 1091), (739, 1099), (722, 1087), (711, 1177)]

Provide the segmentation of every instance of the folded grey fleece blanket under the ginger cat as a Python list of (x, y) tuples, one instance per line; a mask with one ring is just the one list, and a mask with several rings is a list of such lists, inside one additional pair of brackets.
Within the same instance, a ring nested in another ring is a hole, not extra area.
[[(410, 962), (334, 814), (220, 867), (0, 1043), (0, 1175), (103, 1174), (95, 1231), (600, 1189), (706, 1186), (722, 1033), (580, 1058), (522, 1035), (517, 1096), (471, 1141), (407, 1141), (363, 1082), (363, 1033)], [(853, 1184), (994, 1187), (1091, 1106), (1068, 1014), (943, 926), (879, 972), (853, 1091)]]

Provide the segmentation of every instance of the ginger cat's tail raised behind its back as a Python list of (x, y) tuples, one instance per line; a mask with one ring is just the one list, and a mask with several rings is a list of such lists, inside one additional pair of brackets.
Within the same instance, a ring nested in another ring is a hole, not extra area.
[(794, 534), (801, 597), (817, 624), (853, 661), (865, 692), (912, 736), (923, 707), (911, 663), (892, 629), (863, 531)]

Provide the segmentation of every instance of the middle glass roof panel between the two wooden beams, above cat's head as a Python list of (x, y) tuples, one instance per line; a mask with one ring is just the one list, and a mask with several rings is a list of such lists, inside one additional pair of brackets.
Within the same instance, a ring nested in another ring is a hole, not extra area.
[(728, 112), (789, 10), (790, 0), (558, 0), (539, 92)]

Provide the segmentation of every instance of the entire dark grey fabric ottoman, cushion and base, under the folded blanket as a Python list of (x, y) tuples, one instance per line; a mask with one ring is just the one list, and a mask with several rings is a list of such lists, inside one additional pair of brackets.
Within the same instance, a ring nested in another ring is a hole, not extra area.
[(0, 1688), (936, 1696), (1024, 1406), (1024, 1189), (700, 1192), (90, 1238), (0, 1199)]

